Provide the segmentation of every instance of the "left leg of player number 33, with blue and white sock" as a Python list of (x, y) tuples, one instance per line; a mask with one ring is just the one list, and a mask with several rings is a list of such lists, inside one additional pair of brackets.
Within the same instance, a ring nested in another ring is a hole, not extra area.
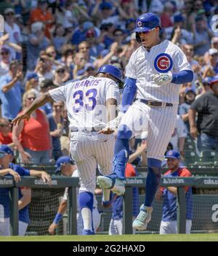
[(81, 209), (81, 216), (84, 224), (84, 235), (93, 235), (93, 197), (95, 182), (95, 173), (97, 162), (93, 157), (91, 136), (86, 134), (76, 134), (70, 141), (70, 152), (72, 158), (76, 161), (78, 176), (80, 178), (80, 188), (78, 193), (78, 202)]

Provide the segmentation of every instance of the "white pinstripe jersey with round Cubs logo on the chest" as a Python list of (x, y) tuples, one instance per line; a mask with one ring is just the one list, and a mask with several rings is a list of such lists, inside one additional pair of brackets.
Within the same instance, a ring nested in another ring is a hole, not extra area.
[(151, 47), (149, 52), (143, 46), (135, 50), (125, 75), (137, 79), (137, 98), (178, 104), (179, 85), (156, 85), (150, 75), (182, 70), (191, 70), (185, 54), (177, 45), (164, 40)]

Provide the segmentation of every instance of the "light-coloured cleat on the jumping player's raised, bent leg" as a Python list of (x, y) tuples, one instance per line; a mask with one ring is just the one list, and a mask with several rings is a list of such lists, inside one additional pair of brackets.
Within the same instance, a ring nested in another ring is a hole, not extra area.
[(124, 195), (125, 193), (125, 182), (122, 179), (111, 179), (110, 177), (99, 176), (97, 177), (97, 184), (100, 185), (102, 189), (111, 189), (116, 195)]

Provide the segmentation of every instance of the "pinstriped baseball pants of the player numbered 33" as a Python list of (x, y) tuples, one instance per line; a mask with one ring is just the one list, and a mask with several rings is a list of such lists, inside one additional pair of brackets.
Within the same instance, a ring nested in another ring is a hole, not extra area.
[(71, 133), (70, 154), (78, 168), (80, 192), (94, 193), (97, 164), (103, 175), (111, 174), (114, 143), (113, 135), (86, 131)]

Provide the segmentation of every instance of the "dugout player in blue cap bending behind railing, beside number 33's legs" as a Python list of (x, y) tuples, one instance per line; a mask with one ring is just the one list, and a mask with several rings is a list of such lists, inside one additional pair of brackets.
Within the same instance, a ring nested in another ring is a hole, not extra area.
[[(76, 167), (76, 163), (74, 160), (70, 159), (68, 156), (62, 156), (57, 159), (56, 161), (57, 169), (55, 173), (61, 171), (61, 173), (65, 176), (70, 177), (78, 177), (78, 170)], [(93, 210), (92, 210), (92, 218), (93, 218), (93, 227), (94, 231), (97, 230), (97, 228), (100, 226), (100, 212), (98, 212), (97, 209), (97, 200), (94, 197), (93, 202)], [(77, 200), (78, 203), (78, 200)], [(49, 226), (49, 233), (55, 234), (55, 229), (57, 228), (59, 220), (62, 219), (62, 215), (65, 213), (68, 206), (68, 187), (65, 188), (65, 194), (63, 195), (62, 201), (60, 202), (60, 206), (57, 210), (57, 214), (55, 216), (55, 219), (53, 220), (52, 224)], [(83, 230), (83, 223), (82, 223), (82, 217), (81, 212), (79, 211), (79, 206), (77, 205), (77, 234), (81, 235)]]

